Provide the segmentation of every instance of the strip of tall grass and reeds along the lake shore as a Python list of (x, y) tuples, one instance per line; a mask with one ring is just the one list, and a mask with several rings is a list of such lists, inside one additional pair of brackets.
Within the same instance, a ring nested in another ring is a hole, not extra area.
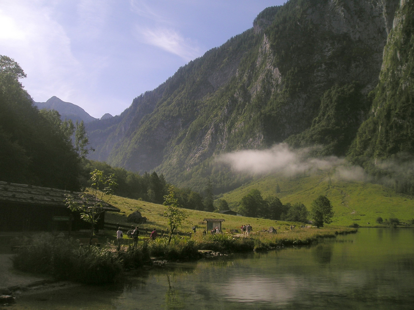
[(150, 257), (165, 260), (196, 260), (198, 250), (214, 250), (222, 253), (240, 253), (251, 250), (269, 250), (277, 246), (310, 244), (321, 237), (354, 232), (352, 228), (307, 228), (269, 234), (258, 232), (247, 238), (231, 234), (197, 235), (193, 238), (173, 236), (140, 242), (137, 247), (122, 246), (116, 250), (113, 244), (102, 248), (81, 246), (71, 239), (39, 234), (22, 244), (13, 258), (16, 269), (51, 274), (56, 279), (69, 279), (87, 284), (105, 284), (116, 280), (123, 270), (140, 268), (150, 263)]

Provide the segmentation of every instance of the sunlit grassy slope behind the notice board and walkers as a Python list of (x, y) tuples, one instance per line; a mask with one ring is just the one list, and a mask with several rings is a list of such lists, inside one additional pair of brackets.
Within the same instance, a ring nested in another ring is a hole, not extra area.
[[(167, 229), (167, 218), (164, 217), (164, 210), (166, 209), (163, 205), (157, 205), (155, 203), (147, 203), (146, 201), (134, 200), (129, 198), (123, 198), (119, 196), (114, 196), (110, 202), (115, 207), (119, 208), (122, 213), (116, 212), (106, 212), (105, 222), (119, 223), (125, 225), (131, 225), (133, 223), (127, 222), (127, 217), (132, 212), (138, 210), (141, 212), (142, 216), (147, 217), (147, 224), (138, 225), (141, 228), (152, 229), (156, 227), (157, 229)], [(258, 219), (252, 217), (240, 217), (236, 215), (222, 215), (220, 213), (204, 212), (197, 210), (186, 210), (188, 212), (188, 221), (191, 223), (186, 223), (183, 227), (179, 228), (179, 231), (191, 231), (191, 227), (197, 227), (197, 230), (206, 228), (206, 224), (203, 222), (205, 218), (218, 218), (225, 219), (226, 221), (222, 223), (223, 231), (230, 231), (231, 229), (238, 229), (243, 224), (250, 224), (253, 227), (253, 231), (258, 231), (261, 229), (269, 229), (270, 226), (284, 229), (284, 227), (289, 227), (291, 222), (283, 221), (273, 221), (271, 219)]]

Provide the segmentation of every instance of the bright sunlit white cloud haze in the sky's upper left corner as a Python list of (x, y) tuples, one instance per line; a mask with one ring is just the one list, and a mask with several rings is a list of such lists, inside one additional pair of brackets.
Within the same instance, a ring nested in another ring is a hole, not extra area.
[[(3, 1), (1, 53), (14, 58), (27, 74), (22, 83), (33, 97), (67, 97), (82, 67), (71, 42), (54, 19), (53, 5), (39, 1)], [(69, 78), (70, 77), (70, 78)]]

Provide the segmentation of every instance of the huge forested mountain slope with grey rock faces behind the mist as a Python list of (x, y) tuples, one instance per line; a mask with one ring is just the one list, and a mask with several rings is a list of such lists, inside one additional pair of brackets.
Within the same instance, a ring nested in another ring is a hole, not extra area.
[[(379, 94), (390, 79), (387, 39), (388, 48), (404, 37), (409, 50), (412, 29), (393, 27), (409, 23), (412, 3), (401, 1), (400, 9), (399, 0), (290, 0), (269, 7), (252, 29), (181, 67), (119, 116), (88, 124), (96, 149), (90, 157), (194, 185), (212, 173), (217, 184), (225, 182), (228, 172), (211, 162), (232, 150), (287, 141), (323, 145), (319, 155), (346, 155), (358, 130), (358, 141), (372, 142), (359, 127), (383, 107), (370, 92)], [(410, 55), (392, 56), (403, 57), (401, 72), (410, 72), (403, 65)], [(358, 147), (351, 158), (373, 156)]]

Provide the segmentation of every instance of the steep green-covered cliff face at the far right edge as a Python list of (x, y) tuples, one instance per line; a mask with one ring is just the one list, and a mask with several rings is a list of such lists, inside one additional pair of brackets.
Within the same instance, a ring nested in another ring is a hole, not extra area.
[[(349, 149), (351, 162), (363, 166), (378, 181), (395, 179), (396, 191), (414, 193), (407, 169), (389, 169), (387, 160), (409, 167), (414, 153), (414, 3), (407, 1), (396, 14), (384, 48), (376, 88), (370, 93), (371, 114)], [(408, 155), (408, 156), (407, 156)]]

